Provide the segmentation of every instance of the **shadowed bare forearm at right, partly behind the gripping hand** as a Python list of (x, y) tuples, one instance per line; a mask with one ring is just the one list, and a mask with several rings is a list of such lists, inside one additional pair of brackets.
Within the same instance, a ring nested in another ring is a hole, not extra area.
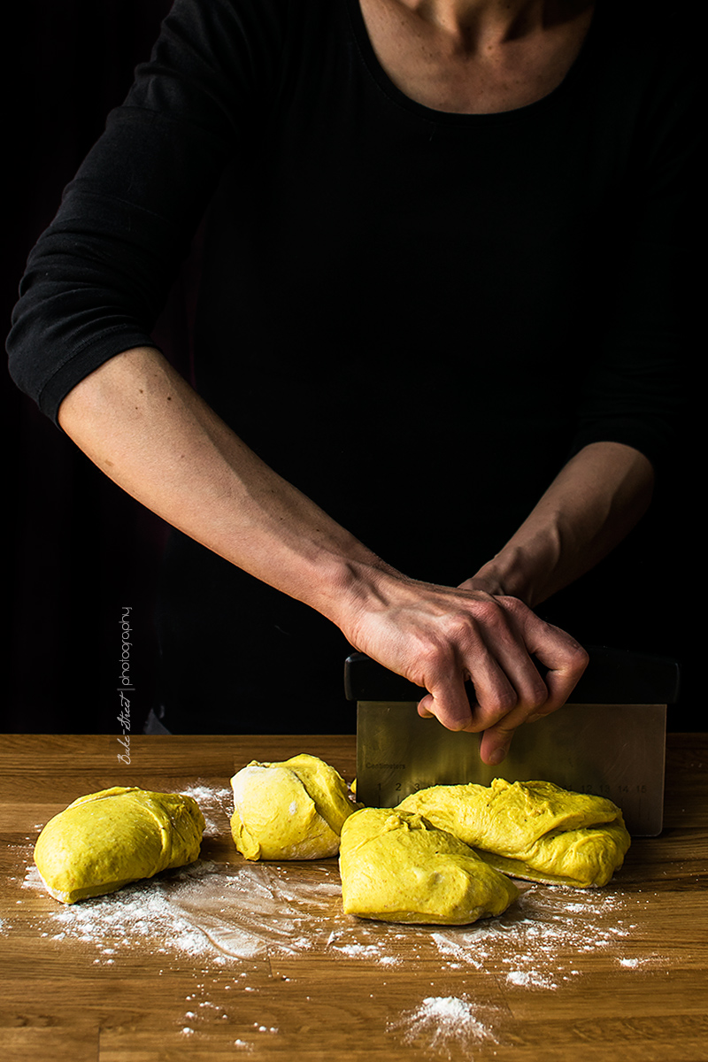
[(560, 470), (504, 548), (463, 586), (535, 607), (603, 559), (652, 498), (649, 460), (621, 443), (593, 443)]

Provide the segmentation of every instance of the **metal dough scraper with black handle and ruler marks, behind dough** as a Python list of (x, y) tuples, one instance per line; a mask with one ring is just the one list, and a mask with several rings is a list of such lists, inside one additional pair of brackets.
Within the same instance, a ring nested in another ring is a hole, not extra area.
[(454, 733), (418, 716), (425, 690), (353, 653), (345, 664), (345, 689), (358, 702), (357, 799), (394, 807), (428, 786), (543, 780), (608, 796), (622, 808), (631, 834), (656, 837), (663, 823), (667, 705), (678, 693), (678, 664), (605, 647), (588, 653), (573, 703), (520, 726), (498, 767), (480, 759), (479, 734)]

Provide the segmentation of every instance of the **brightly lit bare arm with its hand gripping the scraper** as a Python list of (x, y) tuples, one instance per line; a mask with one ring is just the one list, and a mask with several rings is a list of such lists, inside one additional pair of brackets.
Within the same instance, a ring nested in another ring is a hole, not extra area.
[[(355, 648), (427, 689), (426, 704), (452, 730), (554, 710), (586, 666), (573, 638), (516, 598), (392, 568), (267, 467), (153, 348), (86, 377), (64, 399), (59, 424), (168, 523), (316, 609)], [(532, 653), (549, 668), (546, 682)], [(507, 744), (493, 732), (482, 755), (498, 763)]]

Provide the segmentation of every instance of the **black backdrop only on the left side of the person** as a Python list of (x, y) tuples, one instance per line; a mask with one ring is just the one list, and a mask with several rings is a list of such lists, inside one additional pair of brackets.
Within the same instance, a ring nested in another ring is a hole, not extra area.
[[(20, 7), (20, 5), (18, 5)], [(11, 238), (2, 314), (10, 326), (27, 255), (62, 189), (150, 56), (170, 0), (30, 0), (11, 56)], [(189, 372), (177, 286), (156, 330)], [(174, 338), (174, 339), (173, 339)], [(133, 733), (152, 705), (152, 596), (165, 538), (156, 516), (120, 491), (5, 377), (14, 543), (7, 732), (111, 733), (123, 606), (132, 607)]]

